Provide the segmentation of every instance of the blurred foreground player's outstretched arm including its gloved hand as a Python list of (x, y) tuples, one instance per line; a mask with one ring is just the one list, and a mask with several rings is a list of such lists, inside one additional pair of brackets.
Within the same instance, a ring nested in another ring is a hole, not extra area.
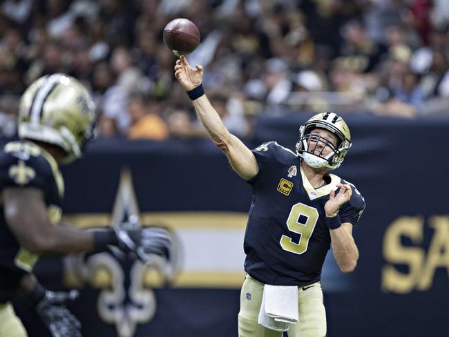
[(35, 254), (102, 251), (117, 245), (147, 262), (149, 254), (164, 256), (172, 242), (166, 229), (122, 228), (87, 231), (55, 226), (47, 215), (44, 193), (36, 188), (7, 187), (3, 190), (5, 220), (21, 247)]

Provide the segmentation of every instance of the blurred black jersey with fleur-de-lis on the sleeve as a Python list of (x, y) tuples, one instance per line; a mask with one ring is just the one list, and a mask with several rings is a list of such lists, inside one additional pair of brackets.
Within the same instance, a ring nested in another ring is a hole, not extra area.
[[(64, 180), (57, 162), (43, 148), (31, 142), (10, 142), (1, 149), (0, 192), (8, 186), (40, 189), (44, 193), (50, 221), (56, 223), (61, 218)], [(19, 278), (32, 270), (37, 256), (20, 247), (6, 224), (1, 199), (0, 302), (6, 302), (10, 292), (17, 287)]]

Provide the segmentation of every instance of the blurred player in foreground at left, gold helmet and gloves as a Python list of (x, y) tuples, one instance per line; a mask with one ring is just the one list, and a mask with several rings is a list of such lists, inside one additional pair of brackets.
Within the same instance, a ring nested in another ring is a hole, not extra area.
[(147, 254), (162, 253), (170, 240), (160, 229), (87, 231), (59, 224), (64, 180), (58, 165), (81, 157), (94, 124), (95, 106), (73, 77), (41, 77), (21, 97), (21, 140), (0, 151), (0, 337), (27, 336), (9, 302), (15, 293), (35, 307), (52, 336), (81, 336), (79, 322), (64, 303), (73, 292), (48, 291), (33, 276), (39, 254), (115, 245), (145, 262)]

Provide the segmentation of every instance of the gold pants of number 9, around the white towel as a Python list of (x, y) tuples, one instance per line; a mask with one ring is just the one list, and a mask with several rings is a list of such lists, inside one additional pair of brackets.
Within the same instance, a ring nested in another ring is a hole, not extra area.
[[(283, 336), (282, 331), (267, 329), (258, 324), (262, 294), (263, 284), (247, 275), (240, 293), (239, 337)], [(290, 326), (287, 332), (289, 337), (324, 337), (326, 335), (326, 311), (320, 282), (298, 289), (298, 311), (298, 322)]]

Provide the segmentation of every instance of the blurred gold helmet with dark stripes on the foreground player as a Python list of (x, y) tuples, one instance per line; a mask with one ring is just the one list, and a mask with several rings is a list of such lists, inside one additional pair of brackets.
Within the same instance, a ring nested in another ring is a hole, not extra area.
[(40, 77), (23, 93), (19, 106), (19, 137), (54, 144), (66, 151), (63, 162), (82, 156), (93, 137), (95, 104), (73, 77)]

